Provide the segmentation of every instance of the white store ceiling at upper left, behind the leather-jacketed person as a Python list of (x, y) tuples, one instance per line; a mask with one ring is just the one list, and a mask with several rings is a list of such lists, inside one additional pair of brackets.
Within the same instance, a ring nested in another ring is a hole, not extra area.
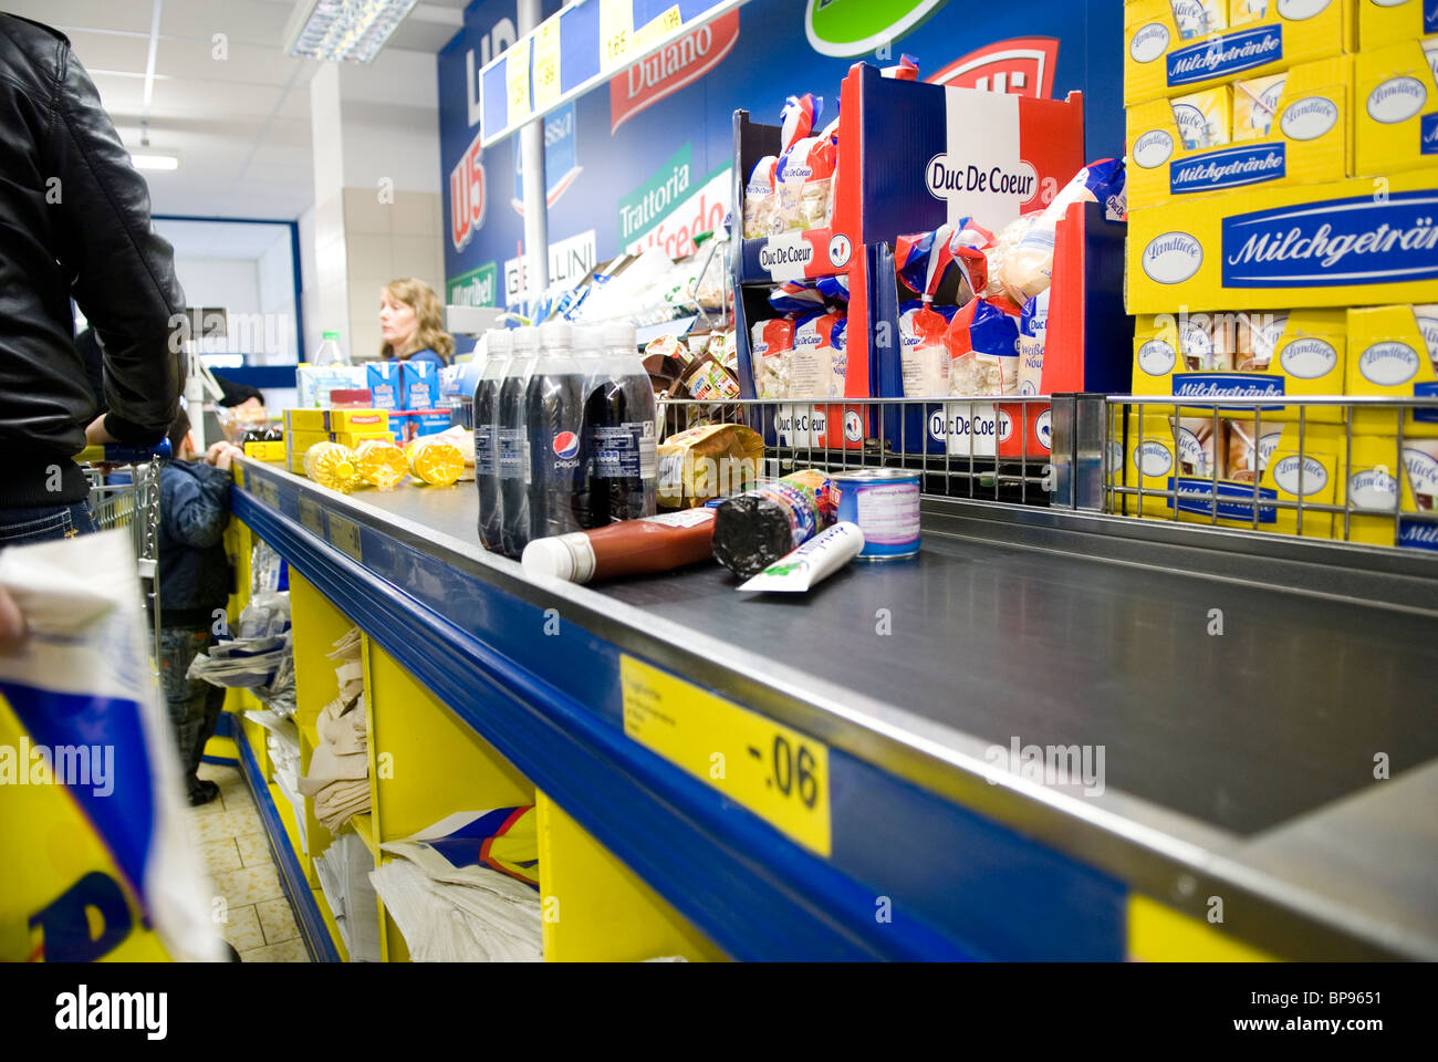
[[(467, 0), (423, 0), (385, 49), (430, 55)], [(6, 0), (62, 30), (128, 147), (139, 144), (151, 23), (160, 7), (150, 145), (178, 151), (147, 171), (154, 212), (293, 220), (315, 199), (309, 79), (319, 63), (285, 55), (293, 0)], [(214, 58), (214, 35), (227, 58)]]

